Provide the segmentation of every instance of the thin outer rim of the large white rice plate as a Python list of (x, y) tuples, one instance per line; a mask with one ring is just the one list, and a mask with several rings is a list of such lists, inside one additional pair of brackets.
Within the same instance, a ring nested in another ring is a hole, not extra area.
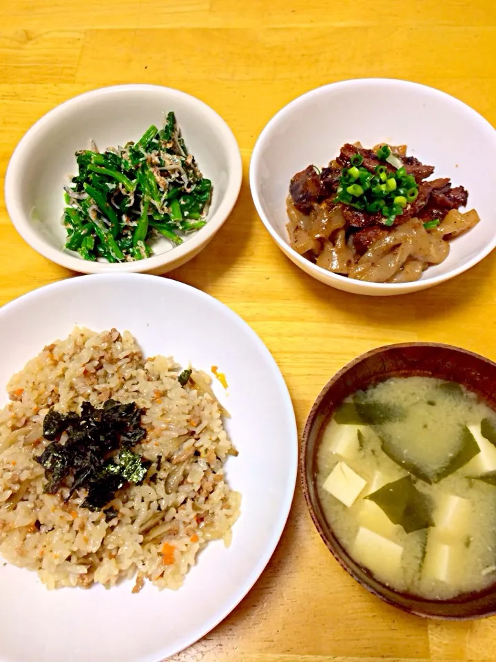
[[(292, 425), (289, 426), (292, 428), (291, 439), (287, 440), (288, 452), (291, 452), (293, 454), (291, 473), (288, 476), (287, 492), (285, 494), (285, 499), (280, 504), (278, 522), (272, 530), (271, 539), (269, 544), (267, 544), (265, 548), (265, 552), (262, 554), (262, 556), (260, 556), (260, 558), (258, 558), (256, 563), (254, 563), (253, 567), (251, 568), (251, 572), (249, 572), (243, 583), (238, 586), (237, 590), (231, 596), (231, 599), (223, 605), (222, 609), (215, 610), (213, 616), (209, 616), (209, 618), (206, 618), (205, 623), (201, 628), (198, 628), (198, 630), (196, 630), (194, 636), (188, 634), (186, 636), (178, 637), (178, 644), (176, 645), (174, 652), (173, 653), (167, 652), (167, 654), (170, 656), (170, 655), (178, 654), (182, 650), (185, 650), (185, 648), (188, 648), (189, 646), (193, 645), (194, 643), (196, 643), (196, 641), (199, 641), (200, 639), (203, 638), (203, 636), (208, 634), (208, 632), (216, 628), (216, 626), (219, 623), (224, 621), (224, 619), (226, 619), (227, 616), (229, 616), (229, 614), (237, 607), (237, 605), (242, 601), (242, 599), (244, 599), (245, 596), (247, 596), (249, 591), (252, 588), (254, 588), (254, 585), (256, 584), (258, 579), (260, 579), (260, 576), (267, 567), (267, 564), (269, 563), (271, 557), (273, 556), (273, 553), (276, 551), (282, 533), (286, 528), (289, 513), (291, 512), (291, 505), (293, 503), (294, 492), (296, 489), (296, 479), (298, 477), (300, 448), (298, 443), (298, 428), (296, 425), (296, 415), (294, 412), (293, 402), (291, 400), (291, 395), (289, 393), (289, 388), (287, 386), (287, 383), (285, 382), (285, 379), (282, 376), (282, 372), (280, 370), (280, 367), (276, 359), (274, 359), (269, 348), (267, 348), (267, 346), (265, 345), (264, 341), (262, 341), (262, 339), (251, 328), (251, 326), (244, 319), (242, 319), (240, 315), (234, 312), (234, 310), (231, 310), (231, 308), (229, 308), (228, 305), (222, 303), (222, 301), (219, 301), (215, 297), (212, 297), (210, 294), (203, 292), (203, 290), (194, 288), (192, 285), (187, 285), (186, 283), (182, 283), (180, 281), (176, 281), (173, 279), (164, 278), (152, 274), (142, 274), (142, 273), (82, 274), (81, 276), (64, 278), (59, 281), (55, 281), (54, 283), (41, 285), (39, 288), (31, 290), (30, 292), (26, 292), (25, 294), (21, 294), (19, 297), (12, 299), (12, 301), (8, 301), (8, 303), (0, 307), (0, 310), (1, 311), (14, 310), (15, 308), (18, 308), (19, 305), (23, 305), (26, 302), (29, 302), (31, 299), (36, 299), (37, 297), (39, 297), (41, 292), (47, 290), (48, 288), (50, 290), (61, 290), (63, 292), (64, 290), (70, 290), (74, 286), (83, 287), (83, 285), (87, 285), (87, 287), (94, 287), (96, 290), (98, 290), (99, 283), (107, 283), (109, 279), (115, 281), (123, 281), (124, 285), (126, 282), (129, 282), (130, 279), (133, 279), (133, 281), (135, 281), (136, 279), (141, 279), (141, 281), (143, 281), (143, 287), (146, 287), (147, 282), (163, 281), (166, 288), (183, 290), (183, 292), (194, 290), (194, 294), (196, 297), (200, 297), (200, 299), (205, 299), (206, 301), (209, 301), (209, 303), (213, 305), (214, 308), (218, 310), (222, 310), (224, 314), (227, 314), (228, 317), (233, 319), (238, 325), (240, 325), (242, 328), (245, 329), (245, 332), (248, 334), (249, 337), (251, 337), (252, 341), (256, 345), (258, 345), (260, 353), (265, 356), (267, 363), (271, 365), (271, 368), (273, 369), (274, 378), (279, 383), (280, 392), (281, 394), (284, 394), (285, 397), (285, 416), (291, 419), (292, 422)], [(163, 650), (164, 651), (166, 650), (165, 645), (163, 646)], [(162, 659), (162, 654), (161, 654), (161, 659)]]

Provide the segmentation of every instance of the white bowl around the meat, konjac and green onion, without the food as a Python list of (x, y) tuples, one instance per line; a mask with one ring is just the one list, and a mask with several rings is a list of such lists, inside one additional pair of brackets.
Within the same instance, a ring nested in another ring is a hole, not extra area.
[[(451, 177), (468, 190), (468, 208), (481, 218), (451, 241), (448, 258), (414, 283), (368, 283), (333, 274), (289, 245), (289, 181), (307, 165), (327, 165), (343, 143), (372, 147), (406, 144), (409, 154), (435, 165), (434, 177)], [(496, 245), (496, 132), (475, 110), (449, 94), (417, 83), (358, 79), (311, 90), (282, 108), (264, 128), (250, 163), (251, 195), (279, 248), (302, 270), (338, 290), (355, 294), (404, 294), (461, 274)]]

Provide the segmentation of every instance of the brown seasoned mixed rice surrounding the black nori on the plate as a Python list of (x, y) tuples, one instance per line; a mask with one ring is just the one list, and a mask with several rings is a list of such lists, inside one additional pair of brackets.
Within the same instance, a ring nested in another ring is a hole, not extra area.
[[(44, 348), (8, 383), (10, 403), (0, 412), (0, 554), (37, 570), (49, 588), (110, 588), (138, 572), (159, 588), (183, 583), (209, 540), (231, 541), (240, 494), (225, 481), (223, 463), (234, 448), (223, 429), (220, 405), (191, 382), (178, 383), (179, 366), (162, 356), (143, 359), (134, 338), (115, 329), (96, 334), (76, 328)], [(203, 379), (209, 377), (203, 374)], [(142, 485), (119, 490), (108, 505), (81, 508), (85, 490), (69, 501), (43, 494), (45, 474), (34, 461), (48, 441), (43, 418), (54, 405), (79, 411), (90, 401), (134, 401), (145, 408), (147, 437), (135, 450), (152, 461)], [(160, 468), (156, 472), (161, 457)]]

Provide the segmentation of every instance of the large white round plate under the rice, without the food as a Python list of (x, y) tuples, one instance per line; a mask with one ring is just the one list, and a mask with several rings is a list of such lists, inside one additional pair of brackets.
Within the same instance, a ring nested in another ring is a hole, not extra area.
[[(37, 574), (0, 559), (1, 662), (158, 662), (200, 639), (234, 609), (276, 548), (293, 499), (298, 439), (282, 375), (254, 331), (188, 285), (143, 274), (83, 276), (48, 285), (0, 310), (0, 383), (74, 325), (129, 330), (145, 354), (209, 372), (239, 450), (227, 479), (242, 494), (233, 541), (209, 543), (178, 591), (133, 581), (105, 590), (48, 591)], [(3, 394), (0, 404), (7, 401)]]

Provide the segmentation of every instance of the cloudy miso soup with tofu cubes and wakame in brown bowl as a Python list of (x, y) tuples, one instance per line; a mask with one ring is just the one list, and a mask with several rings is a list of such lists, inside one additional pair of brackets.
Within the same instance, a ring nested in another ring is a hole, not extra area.
[(340, 543), (391, 588), (448, 599), (496, 581), (496, 414), (462, 386), (356, 392), (324, 427), (317, 482)]

